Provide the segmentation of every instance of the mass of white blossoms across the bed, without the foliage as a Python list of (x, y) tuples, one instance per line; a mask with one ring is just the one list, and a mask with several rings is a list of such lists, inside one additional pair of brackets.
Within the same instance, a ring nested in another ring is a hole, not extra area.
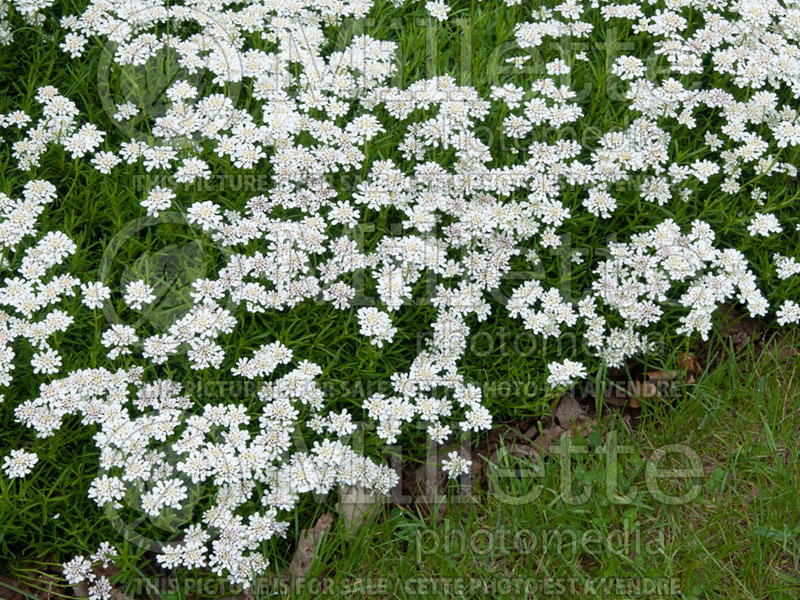
[[(553, 58), (534, 77), (498, 83), (486, 97), (449, 75), (397, 87), (391, 41), (359, 34), (332, 49), (327, 28), (371, 8), (371, 0), (94, 0), (60, 21), (70, 57), (99, 39), (114, 43), (117, 65), (141, 66), (169, 48), (186, 73), (208, 74), (212, 85), (172, 82), (165, 110), (149, 118), (148, 135), (118, 146), (115, 136), (81, 124), (77, 106), (50, 86), (37, 93), (42, 114), (35, 121), (20, 111), (0, 118), (22, 132), (12, 155), (24, 170), (37, 168), (56, 145), (101, 174), (124, 167), (168, 175), (169, 183), (138, 199), (142, 210), (151, 217), (181, 210), (199, 235), (225, 250), (214, 275), (192, 282), (191, 307), (162, 332), (119, 322), (99, 334), (107, 359), (124, 368), (74, 371), (15, 407), (17, 419), (42, 437), (66, 415), (99, 429), (102, 473), (88, 493), (101, 506), (138, 498), (142, 511), (158, 515), (180, 510), (193, 486), (206, 486), (214, 502), (180, 543), (165, 546), (160, 560), (167, 567), (209, 568), (246, 584), (267, 566), (261, 543), (285, 532), (286, 513), (302, 494), (342, 484), (387, 492), (396, 482), (395, 473), (348, 445), (359, 415), (323, 396), (320, 367), (299, 357), (290, 370), (291, 340), (248, 346), (246, 356), (225, 342), (253, 315), (321, 300), (354, 314), (343, 322), (377, 353), (403, 343), (403, 312), (425, 288), (431, 336), (387, 374), (391, 393), (363, 403), (377, 436), (392, 444), (413, 421), (438, 443), (491, 427), (481, 388), (464, 376), (461, 361), (471, 331), (498, 309), (491, 300), (501, 287), (510, 290), (501, 310), (534, 335), (578, 333), (585, 340), (579, 356), (543, 356), (547, 373), (534, 375), (554, 388), (585, 377), (597, 362), (619, 366), (651, 351), (649, 334), (670, 323), (679, 334), (706, 338), (723, 302), (738, 301), (752, 315), (769, 308), (747, 257), (718, 240), (711, 220), (702, 220), (702, 205), (733, 203), (740, 193), (749, 198), (724, 231), (751, 245), (797, 231), (796, 219), (787, 220), (760, 187), (770, 177), (797, 175), (786, 158), (800, 145), (794, 0), (566, 0), (536, 8), (514, 30), (520, 55), (509, 59), (513, 66), (524, 68), (548, 40), (574, 40), (581, 51)], [(424, 8), (436, 21), (451, 14), (441, 0)], [(600, 22), (630, 25), (653, 51), (609, 61), (606, 75), (618, 86), (624, 125), (579, 136), (593, 127), (593, 109), (605, 107), (587, 106), (567, 82), (574, 69), (592, 66), (587, 38)], [(252, 96), (239, 102), (232, 89)], [(119, 124), (131, 125), (147, 107), (123, 99), (113, 112)], [(492, 123), (515, 144), (509, 156), (496, 156), (483, 135)], [(684, 149), (682, 134), (701, 125), (702, 146)], [(383, 134), (397, 141), (392, 158), (369, 152)], [(187, 201), (189, 186), (221, 170), (268, 172), (269, 189), (240, 210), (225, 198)], [(340, 189), (340, 181), (355, 183)], [(3, 248), (33, 234), (54, 191), (37, 180), (22, 200), (0, 196)], [(701, 214), (689, 222), (667, 218), (676, 201), (682, 208), (696, 203)], [(360, 243), (362, 224), (390, 219), (397, 227), (378, 228), (370, 243)], [(583, 289), (568, 295), (549, 276), (508, 281), (512, 270), (543, 266), (538, 257), (563, 248), (566, 236), (602, 232), (609, 222), (635, 227), (627, 241), (572, 254)], [(19, 265), (3, 265), (11, 272), (0, 303), (13, 315), (0, 314), (0, 382), (10, 381), (18, 337), (36, 349), (34, 373), (57, 373), (61, 359), (47, 340), (73, 317), (40, 313), (80, 284), (68, 275), (46, 280), (74, 251), (65, 236), (49, 232)], [(800, 270), (795, 257), (774, 261), (781, 280)], [(86, 282), (82, 301), (96, 310), (119, 297), (144, 312), (156, 302), (151, 283), (134, 279), (112, 290)], [(360, 305), (362, 292), (372, 289), (374, 302)], [(775, 316), (798, 322), (800, 308), (784, 300)], [(194, 371), (265, 383), (258, 409), (208, 404), (183, 394), (179, 382), (160, 379), (184, 354)], [(298, 449), (297, 432), (319, 439), (311, 450)], [(163, 451), (167, 445), (178, 460)], [(24, 457), (14, 460), (9, 468), (24, 474)], [(451, 453), (444, 467), (457, 476), (469, 461)], [(91, 579), (91, 562), (79, 558), (65, 570), (76, 581)], [(101, 597), (106, 583), (99, 581)]]

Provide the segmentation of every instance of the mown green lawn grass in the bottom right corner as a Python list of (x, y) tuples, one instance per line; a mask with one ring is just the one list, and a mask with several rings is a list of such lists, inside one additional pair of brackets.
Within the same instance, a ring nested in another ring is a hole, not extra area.
[[(355, 535), (337, 521), (296, 597), (316, 597), (327, 585), (340, 597), (349, 590), (364, 597), (483, 598), (494, 590), (489, 595), (514, 598), (522, 597), (514, 590), (528, 586), (537, 591), (528, 597), (797, 598), (798, 377), (796, 363), (757, 357), (751, 346), (738, 363), (722, 359), (677, 398), (646, 404), (632, 426), (607, 415), (593, 433), (573, 440), (589, 449), (572, 455), (574, 500), (562, 493), (557, 457), (515, 461), (516, 452), (502, 464), (519, 469), (519, 477), (495, 472), (494, 492), (479, 492), (475, 503), (448, 501), (441, 520), (412, 506), (386, 507)], [(617, 461), (594, 450), (612, 437), (630, 450)], [(655, 462), (657, 449), (675, 444), (689, 450)], [(669, 497), (689, 495), (670, 505), (650, 491), (646, 465), (691, 468), (690, 452), (702, 465), (699, 476), (659, 484)], [(614, 475), (629, 503), (609, 500), (618, 500), (607, 486)], [(603, 578), (671, 586), (680, 595), (664, 587), (655, 596), (606, 594)], [(255, 597), (271, 597), (275, 588), (265, 585)]]

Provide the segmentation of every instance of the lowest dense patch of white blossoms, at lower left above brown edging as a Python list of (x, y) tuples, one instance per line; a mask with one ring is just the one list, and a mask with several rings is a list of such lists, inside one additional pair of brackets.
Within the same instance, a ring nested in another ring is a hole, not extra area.
[[(291, 352), (274, 344), (240, 361), (237, 370), (262, 377), (290, 360)], [(89, 497), (100, 506), (119, 508), (123, 499), (139, 498), (144, 512), (158, 515), (167, 507), (180, 510), (188, 488), (205, 485), (213, 503), (181, 543), (164, 546), (159, 561), (170, 568), (208, 567), (247, 584), (267, 566), (261, 542), (283, 535), (289, 523), (279, 512), (291, 512), (301, 494), (326, 494), (339, 485), (386, 494), (397, 484), (393, 470), (348, 446), (355, 425), (346, 411), (327, 410), (314, 381), (320, 373), (303, 361), (263, 387), (255, 435), (243, 405), (205, 404), (187, 416), (194, 403), (181, 394), (180, 384), (145, 383), (141, 368), (75, 371), (43, 384), (39, 397), (19, 404), (15, 415), (39, 437), (53, 435), (67, 415), (97, 425), (103, 474), (94, 479)], [(304, 427), (323, 435), (309, 450), (295, 451), (293, 432)], [(167, 447), (177, 458), (170, 459)], [(25, 456), (6, 461), (16, 469), (13, 476), (29, 465)], [(85, 564), (70, 569), (77, 577)]]

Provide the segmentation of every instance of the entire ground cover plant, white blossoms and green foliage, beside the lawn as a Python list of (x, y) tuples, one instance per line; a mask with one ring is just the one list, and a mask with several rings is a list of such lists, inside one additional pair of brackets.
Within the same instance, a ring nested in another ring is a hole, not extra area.
[(396, 496), (430, 448), (471, 477), (586, 382), (675, 431), (652, 372), (697, 387), (731, 309), (800, 321), (797, 2), (3, 11), (14, 581), (254, 594), (346, 490)]

